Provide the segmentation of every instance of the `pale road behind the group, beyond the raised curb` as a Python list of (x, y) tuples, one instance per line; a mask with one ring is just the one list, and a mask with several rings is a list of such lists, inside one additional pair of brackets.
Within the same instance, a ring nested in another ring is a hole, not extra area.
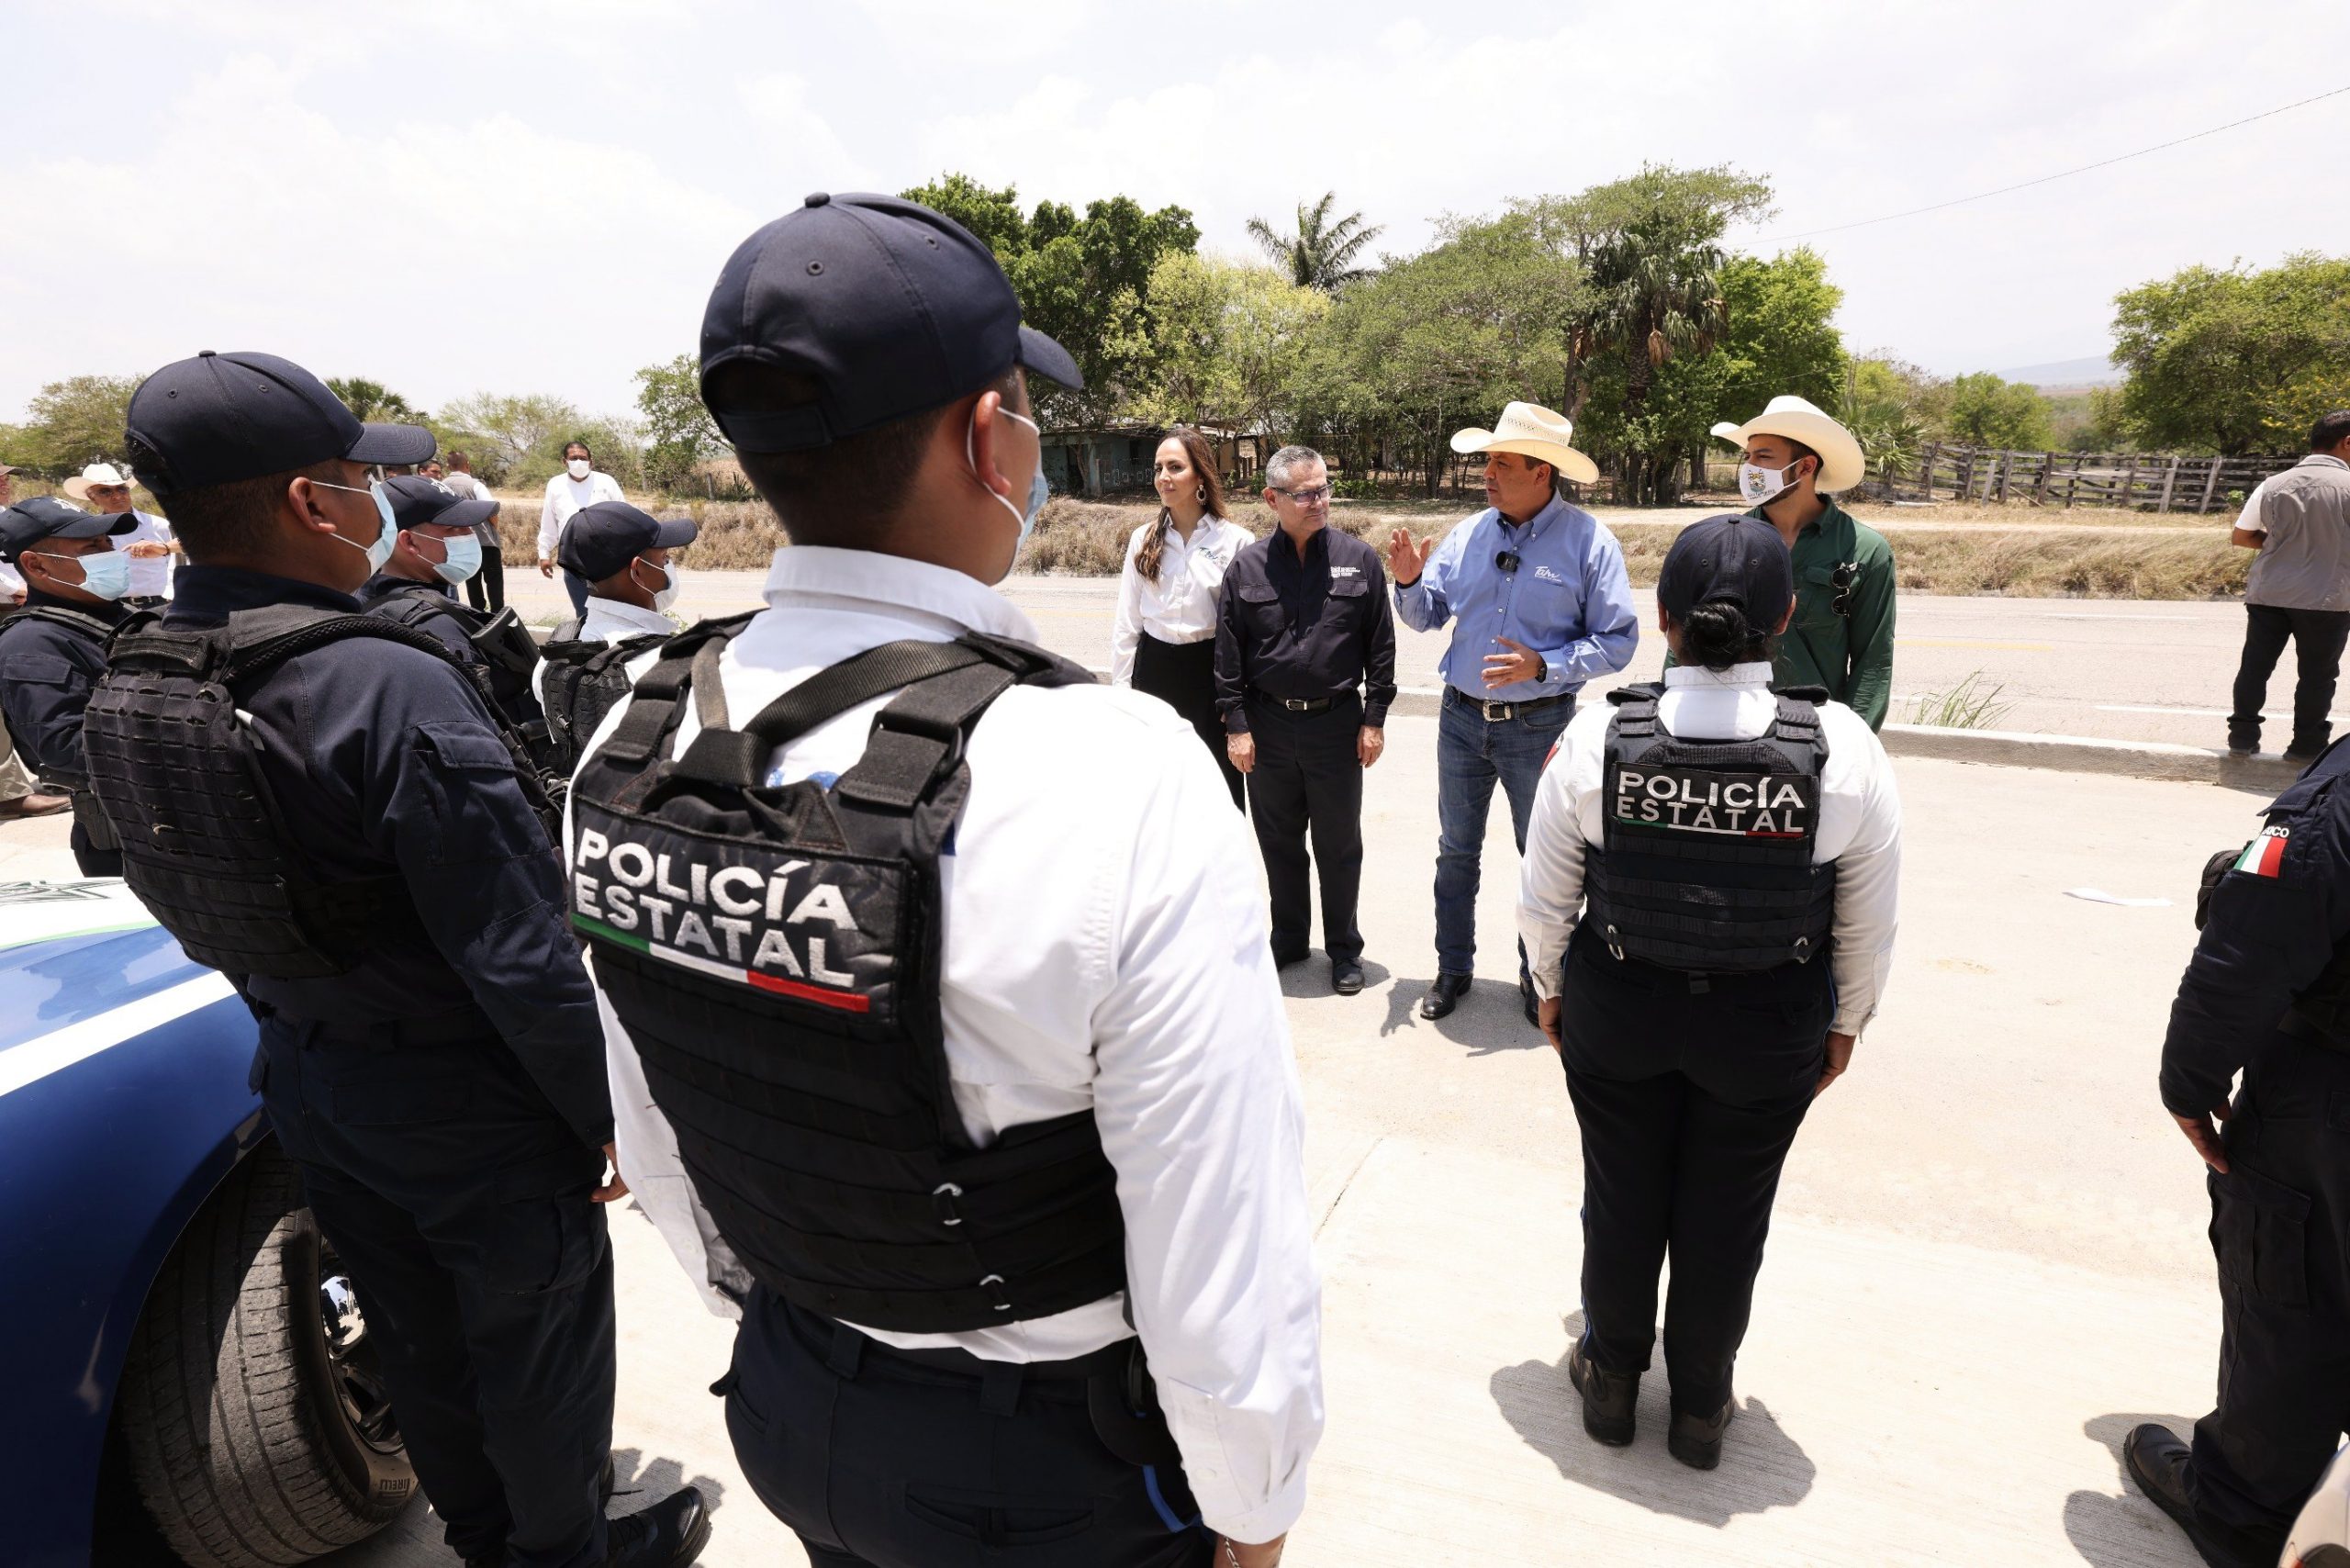
[[(679, 611), (731, 614), (759, 604), (757, 571), (689, 574)], [(557, 583), (510, 574), (524, 618), (569, 614)], [(1034, 621), (1046, 646), (1093, 668), (1109, 665), (1112, 578), (1020, 576), (1010, 599)], [(1664, 639), (1654, 632), (1654, 595), (1640, 590), (1640, 654), (1624, 679), (1654, 679)], [(1436, 661), (1450, 630), (1401, 628), (1398, 682), (1436, 693)], [(2244, 642), (2242, 604), (2136, 599), (1950, 599), (1906, 595), (1894, 649), (1894, 722), (1913, 722), (1915, 698), (1932, 701), (1981, 672), (2000, 686), (2005, 715), (1981, 729), (2021, 729), (2106, 741), (2225, 745), (2235, 663)], [(1612, 682), (1610, 682), (1612, 684)], [(2268, 750), (2291, 741), (2291, 656), (2270, 682)], [(2350, 698), (2338, 703), (2350, 722)], [(1405, 705), (1410, 712), (1412, 705)]]

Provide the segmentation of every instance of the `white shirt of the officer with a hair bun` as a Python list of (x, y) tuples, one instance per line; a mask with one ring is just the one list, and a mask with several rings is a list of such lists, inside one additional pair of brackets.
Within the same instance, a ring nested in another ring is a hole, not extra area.
[[(1767, 663), (1664, 672), (1657, 724), (1692, 741), (1753, 741), (1770, 731), (1779, 703)], [(1605, 835), (1600, 776), (1607, 764), (1612, 703), (1574, 715), (1558, 755), (1542, 771), (1525, 825), (1518, 879), (1518, 933), (1542, 997), (1558, 994), (1558, 966), (1584, 903), (1584, 844)], [(1819, 705), (1828, 759), (1819, 776), (1819, 835), (1812, 865), (1835, 860), (1835, 1020), (1859, 1034), (1878, 1011), (1894, 959), (1894, 912), (1901, 884), (1901, 795), (1894, 769), (1868, 722), (1842, 703)]]

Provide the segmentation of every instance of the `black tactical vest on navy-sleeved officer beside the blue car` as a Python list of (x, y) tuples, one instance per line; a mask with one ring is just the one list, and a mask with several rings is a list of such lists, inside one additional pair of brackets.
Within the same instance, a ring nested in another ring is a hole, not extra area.
[[(89, 788), (120, 827), (125, 882), (197, 964), (315, 980), (348, 973), (385, 936), (423, 940), (404, 877), (327, 877), (310, 865), (237, 712), (240, 693), (280, 663), (345, 637), (439, 658), (498, 719), (482, 670), (383, 616), (273, 604), (226, 625), (167, 625), (148, 611), (115, 635), (82, 715)], [(559, 839), (562, 816), (536, 788), (522, 741), (498, 724), (524, 797)]]

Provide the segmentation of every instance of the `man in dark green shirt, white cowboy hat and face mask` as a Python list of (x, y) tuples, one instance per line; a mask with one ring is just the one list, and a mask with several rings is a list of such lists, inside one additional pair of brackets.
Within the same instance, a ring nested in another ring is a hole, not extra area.
[(1868, 477), (1861, 444), (1802, 397), (1772, 397), (1744, 425), (1713, 425), (1741, 447), (1739, 496), (1795, 557), (1795, 618), (1779, 639), (1777, 686), (1826, 686), (1885, 729), (1894, 696), (1894, 548), (1831, 501)]

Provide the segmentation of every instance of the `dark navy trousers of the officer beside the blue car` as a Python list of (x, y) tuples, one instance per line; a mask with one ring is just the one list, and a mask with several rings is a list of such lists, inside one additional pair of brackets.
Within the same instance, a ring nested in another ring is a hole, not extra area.
[(256, 1077), (449, 1547), (515, 1568), (604, 1561), (602, 1152), (496, 1039), (383, 1046), (270, 1018)]

